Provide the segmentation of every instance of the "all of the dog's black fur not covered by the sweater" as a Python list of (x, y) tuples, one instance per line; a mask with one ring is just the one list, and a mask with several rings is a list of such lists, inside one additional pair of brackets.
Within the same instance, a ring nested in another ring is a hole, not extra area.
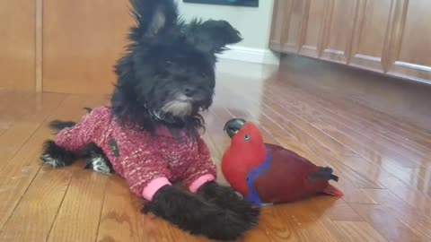
[[(118, 83), (111, 98), (114, 116), (152, 134), (164, 126), (172, 134), (186, 131), (199, 135), (205, 126), (201, 112), (213, 101), (216, 54), (226, 45), (239, 42), (240, 33), (224, 21), (186, 23), (173, 0), (130, 3), (136, 26), (129, 33), (128, 53), (115, 67)], [(51, 128), (59, 131), (73, 125), (54, 121)], [(45, 143), (42, 160), (48, 165), (66, 167), (80, 158), (90, 160), (87, 167), (96, 171), (100, 170), (92, 167), (98, 164), (95, 159), (109, 166), (109, 160), (94, 144), (72, 153), (53, 141)], [(201, 187), (198, 194), (165, 186), (143, 212), (152, 212), (191, 234), (225, 240), (242, 237), (259, 219), (258, 208), (230, 187), (215, 182)]]

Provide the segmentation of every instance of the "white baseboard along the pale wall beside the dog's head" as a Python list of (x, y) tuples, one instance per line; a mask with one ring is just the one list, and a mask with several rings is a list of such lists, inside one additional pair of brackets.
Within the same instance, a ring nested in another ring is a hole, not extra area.
[(221, 59), (239, 60), (251, 63), (279, 65), (279, 54), (263, 48), (245, 48), (230, 46), (218, 57)]

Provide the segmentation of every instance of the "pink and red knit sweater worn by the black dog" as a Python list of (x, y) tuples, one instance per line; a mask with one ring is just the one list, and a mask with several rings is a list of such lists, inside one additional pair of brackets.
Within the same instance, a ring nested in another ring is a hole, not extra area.
[(96, 143), (131, 191), (148, 201), (174, 181), (181, 181), (194, 193), (216, 179), (216, 166), (200, 137), (173, 137), (167, 129), (159, 129), (152, 139), (147, 132), (119, 125), (109, 107), (95, 108), (80, 123), (62, 130), (56, 143), (68, 151)]

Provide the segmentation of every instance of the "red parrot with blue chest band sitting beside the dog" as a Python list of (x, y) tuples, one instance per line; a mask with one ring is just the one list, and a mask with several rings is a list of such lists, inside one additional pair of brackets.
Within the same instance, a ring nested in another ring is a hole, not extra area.
[(314, 165), (310, 160), (276, 144), (264, 143), (259, 128), (241, 118), (224, 125), (232, 138), (224, 152), (222, 172), (233, 189), (249, 202), (288, 203), (313, 194), (342, 196), (329, 184), (338, 181), (332, 169)]

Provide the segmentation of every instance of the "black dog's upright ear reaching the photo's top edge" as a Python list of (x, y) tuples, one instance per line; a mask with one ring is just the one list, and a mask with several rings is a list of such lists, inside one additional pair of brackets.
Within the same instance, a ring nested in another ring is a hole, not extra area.
[(178, 21), (178, 6), (174, 0), (130, 0), (130, 4), (136, 20), (136, 27), (131, 30), (133, 40), (154, 37)]

